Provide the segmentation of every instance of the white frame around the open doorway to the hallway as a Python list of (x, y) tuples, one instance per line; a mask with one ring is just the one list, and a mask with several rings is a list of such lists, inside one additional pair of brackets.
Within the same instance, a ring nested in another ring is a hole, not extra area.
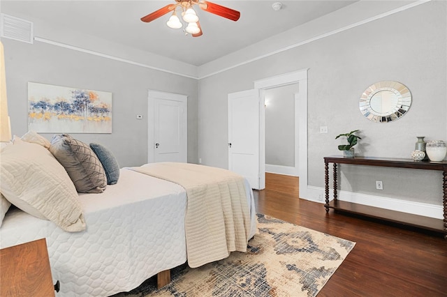
[[(265, 97), (263, 91), (277, 86), (298, 83), (298, 94), (295, 95), (295, 145), (299, 139), (298, 146), (298, 176), (300, 177), (300, 197), (307, 197), (307, 71), (309, 68), (284, 73), (265, 79), (254, 81), (254, 89), (260, 93), (260, 107), (265, 106)], [(297, 99), (298, 97), (298, 99)], [(297, 114), (298, 113), (298, 114)], [(298, 119), (298, 123), (296, 122)], [(259, 169), (261, 171), (260, 187), (265, 188), (265, 108), (260, 108), (259, 113)], [(298, 134), (298, 135), (297, 135)], [(295, 150), (295, 162), (296, 162)]]

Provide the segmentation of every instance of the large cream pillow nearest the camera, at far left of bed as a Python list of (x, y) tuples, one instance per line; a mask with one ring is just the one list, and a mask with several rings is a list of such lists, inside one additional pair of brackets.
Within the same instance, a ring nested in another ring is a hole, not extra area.
[(66, 231), (85, 230), (75, 185), (50, 151), (15, 139), (0, 158), (0, 192), (10, 203)]

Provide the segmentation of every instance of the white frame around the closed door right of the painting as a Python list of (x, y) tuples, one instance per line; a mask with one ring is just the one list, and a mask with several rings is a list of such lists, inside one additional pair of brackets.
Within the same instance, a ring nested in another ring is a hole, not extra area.
[[(187, 124), (188, 124), (188, 96), (176, 93), (168, 93), (163, 91), (155, 91), (148, 90), (147, 91), (147, 162), (154, 162), (154, 153), (155, 153), (155, 123), (154, 123), (154, 100), (155, 99), (163, 99), (163, 100), (173, 100), (183, 102), (186, 107), (186, 132), (187, 132)], [(188, 137), (186, 135), (186, 144), (184, 144), (184, 150), (186, 154), (186, 159), (188, 158)]]

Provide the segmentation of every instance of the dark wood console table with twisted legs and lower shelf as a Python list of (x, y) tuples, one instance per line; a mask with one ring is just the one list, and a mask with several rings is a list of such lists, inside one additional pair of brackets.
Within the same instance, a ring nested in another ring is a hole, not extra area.
[[(373, 158), (373, 157), (355, 157), (345, 158), (342, 156), (330, 156), (324, 158), (325, 163), (325, 208), (326, 213), (329, 208), (336, 211), (344, 211), (347, 213), (356, 213), (365, 215), (369, 218), (379, 218), (381, 220), (388, 220), (397, 222), (399, 224), (406, 224), (413, 227), (419, 227), (430, 231), (441, 232), (447, 238), (447, 162), (415, 162), (412, 159), (397, 159), (397, 158)], [(329, 201), (329, 163), (334, 165), (334, 199)], [(428, 218), (421, 215), (413, 215), (410, 213), (402, 213), (399, 211), (390, 211), (385, 208), (376, 208), (372, 206), (365, 206), (362, 204), (355, 204), (346, 201), (339, 201), (337, 199), (337, 164), (349, 165), (365, 165), (365, 166), (379, 166), (379, 167), (398, 167), (408, 169), (426, 169), (439, 170), (443, 174), (442, 188), (444, 192), (443, 206), (444, 206), (444, 220)]]

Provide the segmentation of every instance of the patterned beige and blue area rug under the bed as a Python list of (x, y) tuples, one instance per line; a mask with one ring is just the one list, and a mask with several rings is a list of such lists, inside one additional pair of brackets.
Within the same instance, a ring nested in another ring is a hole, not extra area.
[(160, 290), (148, 280), (119, 296), (316, 296), (356, 244), (262, 214), (258, 230), (246, 253), (175, 268)]

